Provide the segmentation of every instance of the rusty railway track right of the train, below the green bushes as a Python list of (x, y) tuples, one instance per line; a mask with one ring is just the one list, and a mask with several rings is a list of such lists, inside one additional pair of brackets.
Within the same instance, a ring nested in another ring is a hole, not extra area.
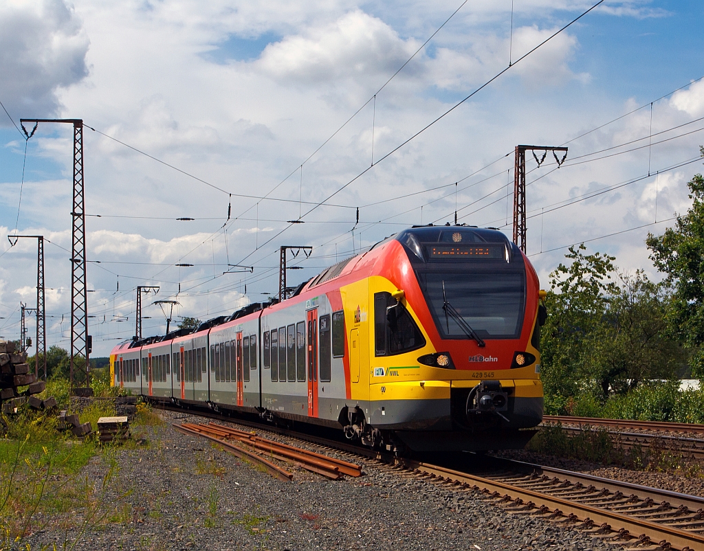
[(620, 419), (593, 419), (591, 417), (558, 417), (546, 415), (543, 425), (560, 424), (563, 431), (580, 433), (586, 429), (601, 428), (612, 436), (615, 444), (623, 448), (659, 448), (679, 452), (690, 459), (704, 459), (704, 438), (672, 436), (672, 434), (630, 432), (629, 430), (660, 431), (675, 433), (702, 433), (704, 425), (686, 423), (664, 423), (652, 421), (622, 421)]

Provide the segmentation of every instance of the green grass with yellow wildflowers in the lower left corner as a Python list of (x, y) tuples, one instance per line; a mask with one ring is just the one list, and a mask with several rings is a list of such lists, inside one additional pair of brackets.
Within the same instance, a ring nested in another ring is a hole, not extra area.
[[(54, 388), (61, 389), (61, 381)], [(80, 417), (95, 429), (99, 417), (114, 414), (111, 403), (96, 400)], [(92, 526), (130, 517), (122, 503), (127, 494), (107, 500), (115, 493), (118, 471), (114, 446), (101, 447), (96, 438), (73, 439), (68, 431), (57, 430), (56, 412), (28, 405), (4, 416), (1, 426), (0, 550), (24, 548), (25, 536), (49, 525), (73, 533), (58, 544), (70, 550)], [(89, 479), (82, 469), (94, 457), (103, 462), (103, 475)]]

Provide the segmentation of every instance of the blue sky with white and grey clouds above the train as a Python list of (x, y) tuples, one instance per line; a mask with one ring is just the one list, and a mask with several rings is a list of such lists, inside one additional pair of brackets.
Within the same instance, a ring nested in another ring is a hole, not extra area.
[(134, 334), (138, 285), (163, 334), (156, 300), (177, 323), (275, 295), (282, 245), (313, 247), (295, 285), (455, 210), (510, 236), (517, 144), (569, 148), (527, 154), (543, 287), (582, 241), (661, 279), (644, 239), (703, 170), (704, 5), (605, 0), (523, 57), (593, 3), (0, 3), (0, 338), (36, 302), (36, 240), (7, 236), (40, 234), (47, 344), (70, 345), (72, 127), (20, 118), (86, 125), (93, 355)]

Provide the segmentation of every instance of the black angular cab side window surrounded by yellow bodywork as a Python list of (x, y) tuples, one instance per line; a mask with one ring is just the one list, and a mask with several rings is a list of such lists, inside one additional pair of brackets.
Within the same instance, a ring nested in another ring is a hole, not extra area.
[(374, 325), (377, 356), (403, 354), (425, 346), (410, 312), (391, 293), (375, 293)]

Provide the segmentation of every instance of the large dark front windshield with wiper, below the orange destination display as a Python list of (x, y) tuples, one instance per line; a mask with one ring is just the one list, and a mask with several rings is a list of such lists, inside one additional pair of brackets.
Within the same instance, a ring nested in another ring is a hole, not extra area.
[[(518, 338), (525, 306), (522, 272), (419, 272), (418, 281), (443, 338), (470, 338), (447, 302), (481, 338)], [(444, 287), (444, 293), (443, 293)]]

